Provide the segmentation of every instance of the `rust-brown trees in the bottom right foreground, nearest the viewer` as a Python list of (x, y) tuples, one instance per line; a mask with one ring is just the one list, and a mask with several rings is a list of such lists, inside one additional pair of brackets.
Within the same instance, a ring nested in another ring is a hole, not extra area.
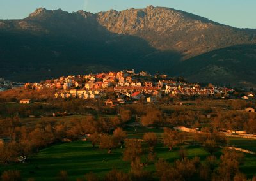
[(159, 159), (156, 163), (156, 174), (160, 180), (246, 180), (245, 175), (239, 171), (243, 157), (243, 154), (234, 150), (224, 149), (220, 164), (212, 155), (207, 157), (205, 163), (202, 163), (199, 157), (184, 157), (175, 161), (173, 166)]

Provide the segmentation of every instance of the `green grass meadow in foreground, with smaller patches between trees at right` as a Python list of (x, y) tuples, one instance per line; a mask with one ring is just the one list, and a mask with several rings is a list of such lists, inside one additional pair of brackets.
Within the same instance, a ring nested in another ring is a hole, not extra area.
[[(161, 137), (163, 129), (141, 127), (134, 131), (134, 128), (127, 129), (129, 138), (142, 138), (145, 132), (152, 131)], [(230, 143), (236, 144), (236, 147), (253, 147), (255, 142), (246, 139), (230, 138)], [(122, 152), (124, 148), (113, 150), (111, 154), (107, 154), (107, 150), (100, 150), (99, 147), (92, 147), (90, 141), (75, 141), (72, 143), (60, 143), (41, 150), (38, 154), (31, 156), (28, 163), (8, 164), (0, 166), (0, 172), (4, 170), (20, 170), (24, 180), (35, 178), (35, 180), (56, 180), (60, 170), (65, 170), (68, 173), (70, 180), (83, 178), (86, 173), (96, 173), (99, 177), (104, 178), (104, 175), (116, 168), (128, 172), (130, 164), (122, 160)], [(161, 143), (156, 146), (158, 158), (163, 158), (173, 163), (175, 159), (179, 159), (179, 147), (175, 147), (173, 151), (168, 152), (168, 148), (163, 147)], [(200, 157), (202, 161), (209, 155), (204, 148), (200, 146), (187, 145), (186, 150), (189, 158), (195, 156)], [(216, 153), (220, 157), (221, 150)], [(145, 167), (147, 171), (154, 171), (154, 164)], [(34, 173), (30, 173), (34, 171)], [(244, 164), (241, 166), (241, 171), (252, 178), (256, 174), (256, 156), (246, 154)]]

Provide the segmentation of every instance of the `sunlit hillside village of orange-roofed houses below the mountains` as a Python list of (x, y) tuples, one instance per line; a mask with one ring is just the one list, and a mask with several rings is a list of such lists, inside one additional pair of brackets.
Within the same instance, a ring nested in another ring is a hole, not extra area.
[[(182, 78), (170, 78), (167, 75), (150, 75), (145, 71), (134, 70), (97, 73), (90, 75), (62, 76), (40, 83), (26, 83), (26, 89), (52, 89), (54, 99), (104, 99), (106, 105), (134, 103), (138, 101), (156, 103), (164, 97), (228, 98), (234, 89), (227, 87), (205, 87), (198, 83), (188, 83)], [(255, 94), (249, 92), (242, 99), (252, 99)]]

